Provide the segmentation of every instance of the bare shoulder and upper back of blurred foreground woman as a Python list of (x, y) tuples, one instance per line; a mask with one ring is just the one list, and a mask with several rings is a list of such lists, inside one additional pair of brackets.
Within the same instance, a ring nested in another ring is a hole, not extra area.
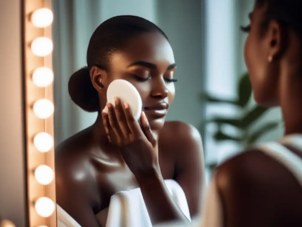
[[(214, 180), (226, 221), (233, 223), (236, 219), (238, 226), (271, 220), (276, 213), (288, 212), (288, 204), (302, 199), (301, 186), (292, 173), (257, 149), (244, 151), (221, 164)], [(268, 226), (266, 222), (262, 224)]]

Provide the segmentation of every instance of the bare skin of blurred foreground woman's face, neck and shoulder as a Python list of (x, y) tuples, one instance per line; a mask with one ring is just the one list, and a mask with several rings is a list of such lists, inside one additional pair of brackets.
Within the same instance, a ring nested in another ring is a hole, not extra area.
[[(265, 107), (281, 106), (285, 134), (302, 133), (301, 38), (270, 21), (261, 30), (266, 6), (250, 16), (245, 60), (254, 97)], [(302, 158), (302, 153), (287, 146)], [(243, 152), (218, 167), (216, 186), (224, 227), (302, 226), (302, 190), (293, 174), (259, 150)]]

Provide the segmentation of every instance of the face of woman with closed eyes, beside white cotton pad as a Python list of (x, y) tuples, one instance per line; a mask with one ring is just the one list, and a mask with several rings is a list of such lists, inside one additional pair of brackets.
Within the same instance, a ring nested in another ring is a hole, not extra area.
[(124, 79), (133, 84), (143, 102), (151, 129), (160, 129), (175, 96), (176, 70), (172, 48), (159, 33), (143, 33), (130, 39), (120, 53), (111, 57), (109, 83)]

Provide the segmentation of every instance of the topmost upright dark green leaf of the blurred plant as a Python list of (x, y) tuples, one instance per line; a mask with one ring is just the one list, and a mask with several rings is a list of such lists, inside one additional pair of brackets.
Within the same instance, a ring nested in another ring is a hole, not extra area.
[(237, 93), (239, 95), (237, 105), (244, 107), (246, 104), (248, 104), (252, 96), (252, 85), (249, 80), (249, 73), (243, 74), (243, 76), (240, 78)]

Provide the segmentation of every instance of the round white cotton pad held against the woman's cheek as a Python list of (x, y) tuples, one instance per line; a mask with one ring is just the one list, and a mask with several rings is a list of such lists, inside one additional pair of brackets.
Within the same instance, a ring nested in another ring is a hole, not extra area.
[[(128, 103), (135, 119), (140, 119), (143, 104), (140, 93), (138, 93), (133, 84), (121, 79), (112, 81), (107, 89), (107, 102), (113, 106), (115, 105), (114, 97), (120, 98), (122, 103)], [(103, 111), (108, 113), (108, 107), (106, 106)]]

